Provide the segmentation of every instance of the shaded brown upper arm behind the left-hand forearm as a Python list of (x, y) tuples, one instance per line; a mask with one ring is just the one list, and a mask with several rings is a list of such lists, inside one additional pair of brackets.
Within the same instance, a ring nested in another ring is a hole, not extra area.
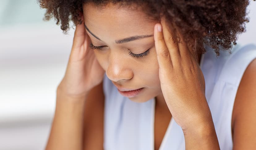
[(102, 83), (87, 95), (83, 121), (83, 150), (103, 150), (104, 99)]

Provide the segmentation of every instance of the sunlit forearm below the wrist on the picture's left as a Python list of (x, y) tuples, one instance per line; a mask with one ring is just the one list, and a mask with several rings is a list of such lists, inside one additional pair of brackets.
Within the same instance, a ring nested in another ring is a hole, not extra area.
[(56, 109), (46, 150), (83, 149), (83, 112), (86, 95), (68, 97), (57, 90)]

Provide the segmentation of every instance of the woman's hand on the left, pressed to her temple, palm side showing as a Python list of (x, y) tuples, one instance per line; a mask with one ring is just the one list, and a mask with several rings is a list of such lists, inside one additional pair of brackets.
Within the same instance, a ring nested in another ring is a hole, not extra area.
[[(82, 20), (83, 20), (83, 15)], [(57, 91), (71, 97), (86, 95), (102, 82), (105, 71), (98, 63), (94, 51), (89, 47), (90, 38), (85, 32), (84, 22), (77, 25), (66, 73)]]

